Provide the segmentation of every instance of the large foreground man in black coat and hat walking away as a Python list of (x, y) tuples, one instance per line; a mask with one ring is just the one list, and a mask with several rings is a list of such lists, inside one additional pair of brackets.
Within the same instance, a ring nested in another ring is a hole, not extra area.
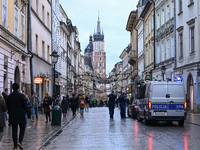
[[(19, 146), (20, 149), (23, 149), (22, 141), (25, 133), (25, 112), (28, 115), (28, 119), (31, 117), (31, 114), (28, 111), (25, 96), (19, 92), (19, 85), (17, 83), (13, 83), (12, 88), (14, 91), (7, 98), (7, 107), (9, 124), (12, 125), (12, 137), (14, 143), (13, 150), (17, 150), (17, 146)], [(19, 142), (17, 143), (18, 125), (20, 133)]]

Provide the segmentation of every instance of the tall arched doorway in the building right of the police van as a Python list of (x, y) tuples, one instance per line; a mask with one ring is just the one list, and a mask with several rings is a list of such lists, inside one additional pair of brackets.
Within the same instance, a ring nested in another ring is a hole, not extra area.
[(187, 79), (187, 97), (189, 99), (189, 109), (194, 109), (194, 87), (193, 87), (193, 77), (189, 74)]

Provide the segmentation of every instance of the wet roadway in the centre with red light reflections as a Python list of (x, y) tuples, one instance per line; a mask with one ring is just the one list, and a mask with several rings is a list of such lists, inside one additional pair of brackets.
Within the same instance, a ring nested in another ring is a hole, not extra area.
[[(184, 127), (177, 122), (145, 126), (121, 119), (118, 108), (110, 119), (108, 108), (92, 108), (72, 120), (45, 150), (199, 150), (200, 114), (188, 114)], [(195, 124), (191, 124), (195, 123)], [(199, 125), (198, 125), (199, 124)]]

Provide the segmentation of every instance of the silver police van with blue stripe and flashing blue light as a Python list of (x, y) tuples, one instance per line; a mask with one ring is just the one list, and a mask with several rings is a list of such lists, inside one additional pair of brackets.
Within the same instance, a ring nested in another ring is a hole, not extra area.
[(178, 121), (184, 125), (187, 103), (182, 82), (147, 81), (139, 84), (138, 121)]

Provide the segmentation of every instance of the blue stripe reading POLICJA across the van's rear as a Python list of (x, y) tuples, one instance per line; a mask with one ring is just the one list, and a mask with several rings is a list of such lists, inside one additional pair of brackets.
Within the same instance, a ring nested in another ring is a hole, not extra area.
[(152, 110), (184, 110), (184, 104), (176, 103), (176, 104), (166, 104), (166, 103), (152, 103)]

